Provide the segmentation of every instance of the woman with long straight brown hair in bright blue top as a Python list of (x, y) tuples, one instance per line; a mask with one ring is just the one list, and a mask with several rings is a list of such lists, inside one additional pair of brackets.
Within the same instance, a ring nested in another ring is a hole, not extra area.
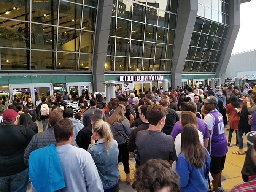
[(197, 127), (186, 124), (181, 132), (181, 152), (176, 161), (181, 191), (207, 192), (209, 170), (210, 154), (199, 141)]

